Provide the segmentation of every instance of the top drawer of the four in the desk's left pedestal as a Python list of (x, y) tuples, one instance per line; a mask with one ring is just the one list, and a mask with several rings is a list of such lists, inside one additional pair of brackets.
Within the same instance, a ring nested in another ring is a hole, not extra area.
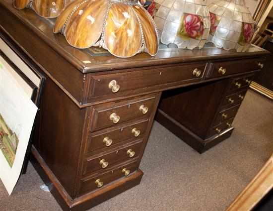
[(91, 131), (96, 131), (109, 126), (114, 126), (125, 121), (149, 117), (154, 107), (155, 97), (138, 98), (122, 101), (121, 103), (109, 103), (93, 107)]

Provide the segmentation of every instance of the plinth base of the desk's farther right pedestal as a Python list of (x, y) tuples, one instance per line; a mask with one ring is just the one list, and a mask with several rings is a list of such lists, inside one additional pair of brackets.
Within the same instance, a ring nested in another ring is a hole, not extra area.
[(219, 135), (214, 135), (204, 140), (200, 138), (199, 136), (195, 135), (190, 130), (188, 130), (178, 121), (174, 120), (171, 116), (166, 114), (161, 109), (158, 109), (157, 114), (155, 116), (155, 120), (158, 121), (161, 125), (163, 125), (168, 130), (170, 130), (177, 137), (181, 138), (185, 143), (190, 145), (200, 154), (212, 148), (216, 144), (222, 142), (223, 140), (229, 138), (234, 129), (234, 127), (231, 127)]

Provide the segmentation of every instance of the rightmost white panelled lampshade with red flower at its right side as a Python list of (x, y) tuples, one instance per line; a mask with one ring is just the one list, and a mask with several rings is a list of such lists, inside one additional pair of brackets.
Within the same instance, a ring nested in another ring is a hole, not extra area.
[(215, 0), (208, 10), (211, 28), (207, 42), (225, 50), (246, 51), (254, 34), (254, 21), (244, 0)]

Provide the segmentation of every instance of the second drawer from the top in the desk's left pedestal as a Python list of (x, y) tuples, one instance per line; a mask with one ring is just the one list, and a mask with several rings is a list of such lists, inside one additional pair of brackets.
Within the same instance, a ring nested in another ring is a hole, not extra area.
[[(110, 130), (105, 129), (105, 131), (91, 133), (88, 138), (86, 154), (99, 149), (109, 150), (126, 140), (136, 140), (146, 132), (147, 124), (148, 120), (146, 119), (138, 123), (124, 124)], [(134, 128), (136, 129), (134, 130)]]

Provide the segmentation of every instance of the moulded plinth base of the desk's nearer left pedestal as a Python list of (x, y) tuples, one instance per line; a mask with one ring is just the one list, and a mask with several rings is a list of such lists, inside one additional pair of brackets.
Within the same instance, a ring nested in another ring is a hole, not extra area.
[(79, 198), (71, 199), (34, 146), (32, 146), (32, 155), (33, 156), (30, 159), (32, 165), (45, 184), (53, 184), (51, 194), (64, 211), (85, 211), (91, 209), (92, 207), (135, 187), (140, 183), (143, 176), (143, 172), (138, 169), (126, 179), (117, 180), (97, 191), (90, 192)]

